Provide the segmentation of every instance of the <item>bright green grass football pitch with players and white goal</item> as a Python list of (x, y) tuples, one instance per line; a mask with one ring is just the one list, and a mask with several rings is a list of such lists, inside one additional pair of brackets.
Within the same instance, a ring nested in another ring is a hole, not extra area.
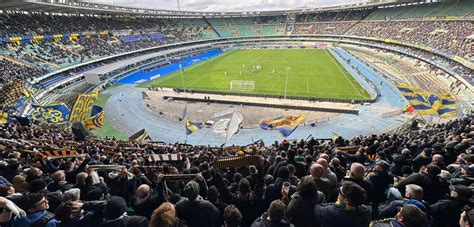
[[(251, 72), (252, 66), (261, 70)], [(234, 50), (184, 70), (186, 89), (230, 92), (230, 81), (255, 81), (249, 93), (288, 96), (369, 99), (369, 94), (347, 70), (323, 49)], [(227, 72), (227, 76), (225, 75)], [(240, 72), (242, 75), (240, 75)], [(157, 78), (142, 87), (183, 88), (181, 73)]]

